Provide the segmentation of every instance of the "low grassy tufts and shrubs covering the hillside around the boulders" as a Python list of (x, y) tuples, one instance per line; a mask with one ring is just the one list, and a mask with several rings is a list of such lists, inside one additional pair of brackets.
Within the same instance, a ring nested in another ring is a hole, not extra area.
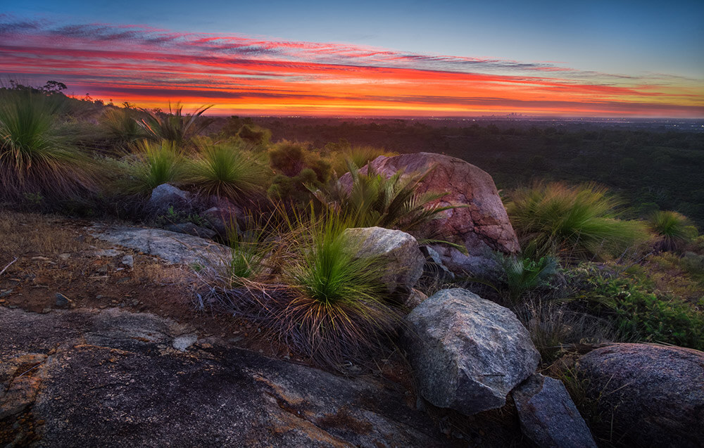
[[(378, 260), (357, 258), (344, 229), (427, 226), (448, 210), (438, 205), (442, 192), (417, 191), (429, 171), (386, 176), (359, 169), (390, 154), (381, 148), (272, 143), (272, 132), (251, 119), (230, 117), (212, 128), (203, 116), (208, 107), (191, 114), (179, 104), (168, 112), (117, 108), (65, 97), (52, 86), (0, 89), (0, 200), (150, 225), (208, 226), (193, 210), (171, 207), (153, 216), (140, 205), (165, 183), (207, 203), (215, 196), (248, 218), (246, 226), (233, 218), (216, 237), (230, 245), (231, 257), (220, 271), (201, 267), (201, 295), (212, 299), (201, 305), (256, 322), (332, 369), (370, 364), (392, 350), (403, 309), (380, 286)], [(80, 110), (91, 120), (77, 119)], [(548, 134), (541, 138), (552, 139)], [(536, 172), (550, 163), (532, 162)], [(609, 340), (703, 349), (704, 242), (691, 220), (626, 207), (605, 186), (545, 177), (503, 191), (522, 253), (502, 257), (495, 279), (434, 279), (426, 292), (470, 286), (511, 307), (546, 363), (574, 345)], [(71, 205), (77, 200), (81, 207)]]

